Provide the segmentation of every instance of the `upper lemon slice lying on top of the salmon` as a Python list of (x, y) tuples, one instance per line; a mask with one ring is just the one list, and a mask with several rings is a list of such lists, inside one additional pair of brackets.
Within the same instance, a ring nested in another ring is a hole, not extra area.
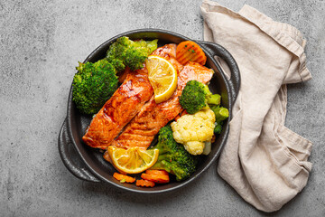
[(153, 86), (154, 100), (161, 103), (170, 99), (177, 87), (177, 71), (170, 61), (151, 55), (145, 61), (148, 78)]

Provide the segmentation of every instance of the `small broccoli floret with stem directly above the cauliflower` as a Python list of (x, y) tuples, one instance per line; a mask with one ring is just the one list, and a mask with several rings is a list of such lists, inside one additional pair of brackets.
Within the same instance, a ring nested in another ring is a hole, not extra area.
[(180, 103), (189, 114), (194, 114), (207, 108), (208, 104), (220, 104), (220, 95), (212, 94), (208, 85), (198, 80), (190, 80), (181, 92)]

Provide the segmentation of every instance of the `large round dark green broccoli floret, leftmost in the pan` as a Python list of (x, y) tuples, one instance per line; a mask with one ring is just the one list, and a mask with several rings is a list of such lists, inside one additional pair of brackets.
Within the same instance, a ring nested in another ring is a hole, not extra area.
[(73, 78), (72, 99), (84, 114), (95, 114), (117, 89), (116, 70), (106, 59), (79, 62)]

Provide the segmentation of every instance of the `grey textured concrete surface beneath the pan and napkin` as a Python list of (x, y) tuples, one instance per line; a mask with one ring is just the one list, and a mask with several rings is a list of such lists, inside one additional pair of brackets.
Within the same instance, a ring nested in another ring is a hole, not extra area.
[(78, 61), (118, 33), (161, 28), (202, 40), (200, 1), (0, 1), (0, 216), (324, 216), (325, 2), (218, 1), (254, 6), (307, 39), (313, 79), (288, 87), (286, 126), (313, 142), (310, 180), (282, 210), (258, 212), (216, 165), (177, 193), (136, 195), (75, 178), (58, 153)]

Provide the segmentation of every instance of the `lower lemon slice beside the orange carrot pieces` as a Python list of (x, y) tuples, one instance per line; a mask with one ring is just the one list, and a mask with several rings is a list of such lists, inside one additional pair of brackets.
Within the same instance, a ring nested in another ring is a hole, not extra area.
[(144, 148), (140, 147), (124, 149), (116, 146), (108, 146), (107, 153), (110, 162), (118, 171), (126, 174), (139, 174), (156, 163), (159, 150), (144, 150)]

